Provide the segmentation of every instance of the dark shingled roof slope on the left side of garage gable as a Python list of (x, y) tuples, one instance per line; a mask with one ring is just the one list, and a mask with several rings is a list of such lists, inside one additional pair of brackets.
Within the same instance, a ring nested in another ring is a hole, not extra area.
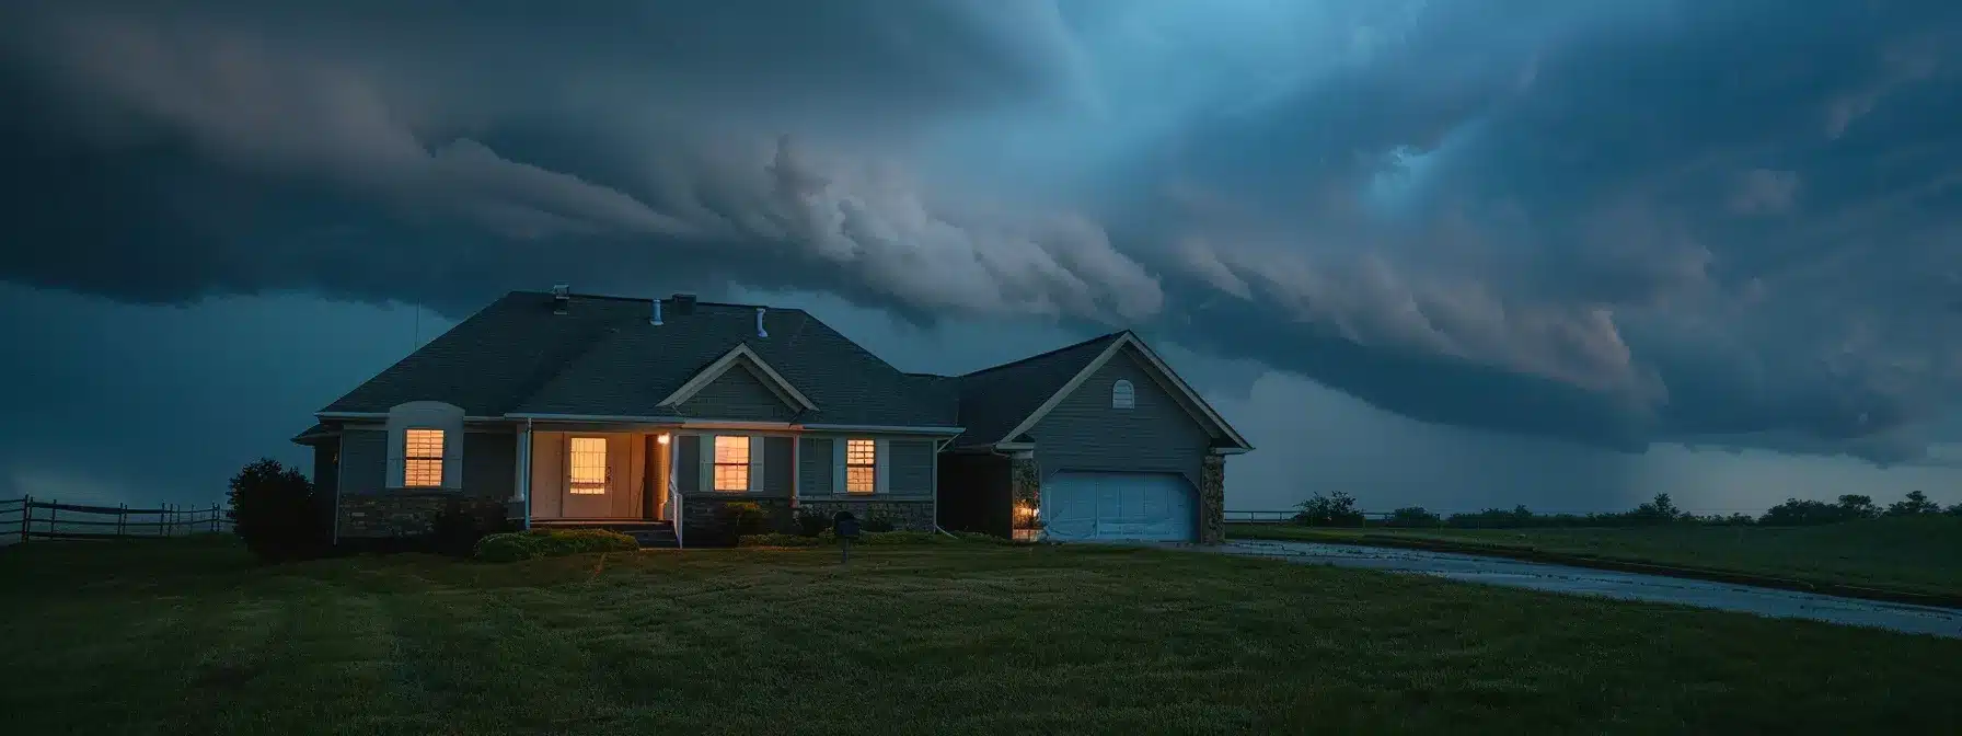
[(959, 387), (961, 426), (967, 432), (961, 434), (959, 444), (1016, 442), (1016, 438), (1007, 436), (1008, 430), (1022, 424), (1028, 414), (1034, 414), (1044, 400), (1050, 400), (1069, 379), (1075, 379), (1085, 365), (1103, 355), (1122, 336), (1122, 332), (1112, 332), (1042, 355), (961, 375), (955, 381)]

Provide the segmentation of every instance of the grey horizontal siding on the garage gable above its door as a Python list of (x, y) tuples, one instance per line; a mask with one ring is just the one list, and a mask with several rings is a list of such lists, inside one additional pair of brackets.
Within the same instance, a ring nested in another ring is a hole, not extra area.
[[(1130, 381), (1136, 408), (1112, 408), (1110, 387)], [(1179, 473), (1199, 487), (1213, 436), (1140, 365), (1112, 355), (1030, 430), (1042, 475), (1058, 471)]]

